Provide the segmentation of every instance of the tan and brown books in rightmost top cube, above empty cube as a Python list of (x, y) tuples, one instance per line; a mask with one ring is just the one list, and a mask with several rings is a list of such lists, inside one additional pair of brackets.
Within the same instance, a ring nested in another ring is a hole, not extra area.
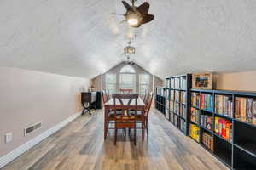
[(235, 117), (256, 124), (256, 99), (236, 97)]

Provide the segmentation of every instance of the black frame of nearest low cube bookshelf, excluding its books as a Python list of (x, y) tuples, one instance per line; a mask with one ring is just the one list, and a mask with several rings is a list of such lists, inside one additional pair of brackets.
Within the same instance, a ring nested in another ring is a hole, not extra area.
[[(199, 110), (201, 116), (212, 116), (212, 130), (201, 125), (201, 122), (191, 122), (191, 109), (189, 111), (189, 123), (196, 124), (200, 128), (200, 141), (199, 144), (206, 150), (208, 150), (213, 156), (216, 156), (218, 160), (224, 162), (224, 164), (230, 169), (256, 169), (256, 125), (253, 122), (247, 120), (240, 120), (236, 118), (236, 98), (244, 97), (249, 99), (256, 99), (255, 92), (242, 92), (242, 91), (229, 91), (229, 90), (201, 90), (190, 89), (189, 96), (192, 97), (192, 93), (198, 93), (200, 98), (200, 105), (193, 106), (191, 101), (191, 107)], [(201, 94), (209, 94), (213, 96), (213, 108), (211, 110), (202, 109), (202, 97)], [(230, 99), (232, 102), (231, 115), (218, 113), (218, 101), (215, 99), (216, 95), (224, 95), (226, 99)], [(216, 108), (215, 108), (216, 107)], [(215, 117), (221, 117), (224, 120), (229, 120), (232, 123), (232, 130), (230, 139), (225, 139), (222, 135), (216, 133), (215, 129)], [(202, 144), (202, 133), (207, 132), (213, 138), (213, 150), (209, 150), (204, 144)], [(193, 138), (192, 138), (193, 139)], [(195, 139), (194, 139), (195, 140)], [(198, 142), (195, 140), (195, 142)]]

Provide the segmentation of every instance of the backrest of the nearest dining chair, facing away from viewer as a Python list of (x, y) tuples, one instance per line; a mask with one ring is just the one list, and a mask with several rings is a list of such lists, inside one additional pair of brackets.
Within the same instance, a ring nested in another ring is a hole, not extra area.
[[(131, 117), (130, 105), (133, 105), (134, 116), (137, 116), (137, 99), (139, 94), (113, 94), (114, 116), (117, 116), (117, 110), (121, 110), (120, 120), (124, 117)], [(119, 105), (117, 104), (119, 102)], [(125, 104), (124, 104), (125, 102)], [(127, 102), (127, 103), (126, 103)], [(126, 111), (126, 115), (125, 115)]]

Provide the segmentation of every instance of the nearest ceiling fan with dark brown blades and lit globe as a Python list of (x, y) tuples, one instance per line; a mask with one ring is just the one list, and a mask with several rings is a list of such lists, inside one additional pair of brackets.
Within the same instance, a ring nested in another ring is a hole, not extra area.
[[(142, 24), (146, 24), (150, 22), (151, 20), (154, 20), (153, 14), (148, 14), (149, 6), (150, 4), (145, 2), (141, 4), (139, 7), (136, 7), (134, 5), (136, 0), (131, 0), (132, 5), (129, 3), (126, 3), (125, 1), (122, 1), (123, 5), (126, 8), (125, 14), (119, 14), (125, 16), (125, 20), (128, 24), (132, 27), (139, 27)], [(116, 13), (112, 13), (116, 14)]]

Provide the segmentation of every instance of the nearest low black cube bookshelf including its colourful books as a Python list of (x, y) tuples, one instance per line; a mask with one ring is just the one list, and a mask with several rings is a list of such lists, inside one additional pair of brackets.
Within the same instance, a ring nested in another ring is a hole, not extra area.
[(230, 169), (256, 169), (256, 93), (190, 89), (189, 97), (189, 136)]

